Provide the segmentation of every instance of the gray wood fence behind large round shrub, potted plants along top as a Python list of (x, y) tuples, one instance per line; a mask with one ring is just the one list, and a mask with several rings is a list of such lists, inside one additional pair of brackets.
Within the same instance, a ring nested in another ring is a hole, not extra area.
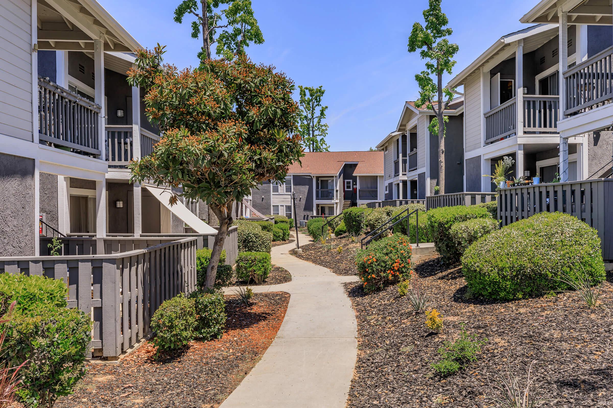
[(598, 230), (603, 258), (613, 260), (613, 180), (594, 179), (576, 182), (536, 184), (501, 188), (498, 219), (503, 226), (539, 212), (573, 215)]

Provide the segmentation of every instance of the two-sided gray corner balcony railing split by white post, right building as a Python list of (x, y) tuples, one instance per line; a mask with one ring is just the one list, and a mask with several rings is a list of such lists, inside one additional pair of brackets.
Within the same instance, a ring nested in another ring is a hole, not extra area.
[[(523, 133), (556, 134), (560, 117), (557, 95), (523, 95)], [(485, 113), (485, 144), (517, 133), (517, 98), (511, 98)]]

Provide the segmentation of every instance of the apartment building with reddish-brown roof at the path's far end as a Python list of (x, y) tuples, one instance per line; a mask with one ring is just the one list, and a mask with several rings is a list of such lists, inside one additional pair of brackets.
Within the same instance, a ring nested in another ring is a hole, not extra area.
[[(308, 220), (337, 215), (351, 206), (384, 198), (383, 152), (307, 152), (289, 166), (284, 183), (251, 190), (251, 206), (265, 215)], [(296, 210), (292, 206), (296, 194)]]

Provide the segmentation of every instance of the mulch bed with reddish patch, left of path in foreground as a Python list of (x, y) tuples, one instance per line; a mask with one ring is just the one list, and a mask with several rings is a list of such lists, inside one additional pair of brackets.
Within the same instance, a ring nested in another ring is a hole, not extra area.
[(143, 344), (118, 365), (89, 365), (64, 407), (217, 407), (240, 384), (276, 336), (289, 294), (254, 294), (245, 308), (226, 296), (227, 329), (221, 339), (193, 341), (188, 350), (153, 360)]

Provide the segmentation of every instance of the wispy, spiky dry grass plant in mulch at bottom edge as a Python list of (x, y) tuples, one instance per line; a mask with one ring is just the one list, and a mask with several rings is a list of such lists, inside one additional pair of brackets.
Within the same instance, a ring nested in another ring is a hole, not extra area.
[(534, 361), (531, 362), (528, 367), (525, 387), (512, 373), (510, 365), (504, 375), (500, 374), (495, 378), (488, 376), (491, 393), (486, 398), (492, 399), (498, 408), (536, 408), (543, 405), (546, 400), (537, 398), (536, 390), (532, 387), (531, 372), (534, 363)]

